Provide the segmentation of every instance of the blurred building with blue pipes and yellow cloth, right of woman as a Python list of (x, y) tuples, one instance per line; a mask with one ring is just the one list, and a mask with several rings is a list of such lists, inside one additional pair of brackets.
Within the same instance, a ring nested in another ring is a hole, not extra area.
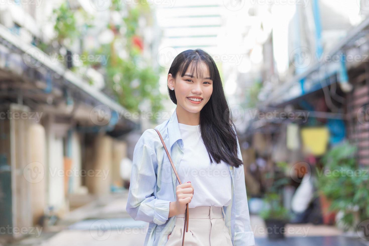
[[(283, 177), (294, 186), (280, 192), (290, 208), (301, 184), (297, 172), (307, 172), (301, 163), (315, 169), (344, 141), (358, 146), (359, 166), (369, 164), (369, 19), (362, 4), (314, 0), (306, 6), (268, 6), (275, 24), (263, 43), (259, 103), (246, 114), (241, 137), (249, 194), (265, 193), (285, 163)], [(327, 204), (320, 202), (324, 219)], [(305, 222), (317, 217), (310, 219)]]

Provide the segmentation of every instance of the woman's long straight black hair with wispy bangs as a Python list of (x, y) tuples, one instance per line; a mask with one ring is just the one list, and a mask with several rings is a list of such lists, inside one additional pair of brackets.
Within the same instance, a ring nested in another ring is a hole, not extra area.
[[(206, 64), (210, 78), (213, 80), (213, 93), (200, 111), (201, 137), (210, 157), (210, 163), (213, 163), (213, 158), (216, 163), (223, 160), (228, 165), (239, 167), (243, 162), (237, 155), (236, 127), (232, 122), (232, 113), (225, 99), (222, 81), (213, 58), (202, 49), (188, 49), (176, 56), (168, 74), (171, 73), (173, 78), (177, 75), (183, 77), (188, 66), (192, 64), (190, 74), (194, 75), (193, 72), (196, 69), (197, 76), (201, 78), (203, 71), (198, 66), (201, 62)], [(170, 90), (168, 87), (168, 94), (172, 102), (177, 104), (175, 90)]]

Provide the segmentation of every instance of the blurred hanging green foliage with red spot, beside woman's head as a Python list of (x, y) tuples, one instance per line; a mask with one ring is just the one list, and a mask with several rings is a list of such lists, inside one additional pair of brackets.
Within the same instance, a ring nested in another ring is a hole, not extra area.
[[(118, 101), (130, 111), (139, 111), (141, 103), (148, 103), (149, 111), (159, 112), (163, 109), (161, 94), (159, 92), (159, 75), (162, 67), (155, 70), (142, 56), (141, 37), (138, 35), (139, 18), (150, 13), (149, 4), (140, 1), (137, 6), (127, 6), (128, 14), (123, 18), (125, 33), (121, 34), (127, 39), (125, 51), (128, 59), (115, 55), (114, 39), (110, 46), (111, 59), (108, 59), (107, 82), (113, 88)], [(111, 29), (119, 28), (109, 26)], [(115, 32), (117, 33), (117, 32)], [(152, 119), (155, 122), (155, 119)]]

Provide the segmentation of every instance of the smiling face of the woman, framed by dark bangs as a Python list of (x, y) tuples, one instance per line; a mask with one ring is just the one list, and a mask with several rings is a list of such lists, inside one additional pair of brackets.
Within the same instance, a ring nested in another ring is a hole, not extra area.
[(202, 78), (197, 76), (196, 69), (191, 75), (191, 64), (183, 77), (177, 73), (176, 79), (173, 79), (172, 74), (168, 74), (168, 87), (174, 87), (177, 106), (192, 113), (200, 112), (213, 93), (213, 80), (210, 79), (206, 64), (201, 62), (198, 65), (201, 66), (199, 70), (203, 71)]

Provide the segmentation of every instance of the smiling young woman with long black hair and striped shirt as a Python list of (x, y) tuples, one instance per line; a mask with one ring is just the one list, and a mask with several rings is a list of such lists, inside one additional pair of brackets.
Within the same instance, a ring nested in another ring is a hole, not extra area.
[[(177, 105), (155, 127), (180, 177), (179, 184), (155, 129), (138, 140), (127, 212), (149, 222), (144, 245), (254, 245), (241, 151), (219, 71), (201, 49), (183, 51), (168, 72)], [(189, 204), (188, 231), (184, 230)]]

